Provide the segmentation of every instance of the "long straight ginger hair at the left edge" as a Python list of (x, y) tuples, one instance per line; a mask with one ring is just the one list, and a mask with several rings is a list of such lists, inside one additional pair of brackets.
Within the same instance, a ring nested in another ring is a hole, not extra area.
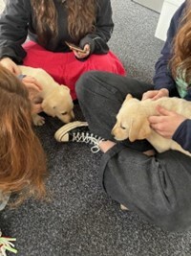
[(46, 157), (32, 129), (32, 105), (25, 85), (0, 66), (0, 190), (16, 203), (46, 195)]

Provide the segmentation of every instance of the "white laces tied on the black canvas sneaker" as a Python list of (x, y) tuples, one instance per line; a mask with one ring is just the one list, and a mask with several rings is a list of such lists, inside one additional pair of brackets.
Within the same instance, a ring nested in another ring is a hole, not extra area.
[(89, 132), (76, 132), (73, 134), (73, 139), (72, 139), (73, 142), (74, 141), (84, 142), (86, 144), (94, 145), (91, 148), (91, 151), (93, 153), (100, 151), (99, 143), (103, 140), (104, 140), (103, 138), (96, 136), (95, 134), (89, 133)]

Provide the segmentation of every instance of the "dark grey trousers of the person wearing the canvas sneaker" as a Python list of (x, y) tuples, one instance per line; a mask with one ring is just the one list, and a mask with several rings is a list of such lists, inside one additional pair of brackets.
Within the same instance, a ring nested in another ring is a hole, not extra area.
[[(152, 84), (91, 71), (76, 83), (79, 105), (90, 130), (114, 141), (111, 130), (127, 93), (138, 99)], [(147, 141), (117, 143), (103, 153), (100, 177), (106, 193), (147, 221), (169, 231), (191, 227), (191, 157), (165, 151), (149, 157)]]

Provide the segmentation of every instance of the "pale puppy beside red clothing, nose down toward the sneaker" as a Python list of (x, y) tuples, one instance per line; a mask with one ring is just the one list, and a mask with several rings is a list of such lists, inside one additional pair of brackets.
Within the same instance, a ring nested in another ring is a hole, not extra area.
[[(41, 86), (42, 91), (37, 95), (37, 100), (42, 102), (43, 111), (59, 118), (63, 123), (69, 123), (74, 119), (74, 104), (70, 94), (70, 89), (65, 85), (59, 85), (53, 78), (41, 68), (19, 66), (22, 75), (35, 78)], [(44, 125), (44, 118), (38, 114), (32, 114), (35, 126)]]

